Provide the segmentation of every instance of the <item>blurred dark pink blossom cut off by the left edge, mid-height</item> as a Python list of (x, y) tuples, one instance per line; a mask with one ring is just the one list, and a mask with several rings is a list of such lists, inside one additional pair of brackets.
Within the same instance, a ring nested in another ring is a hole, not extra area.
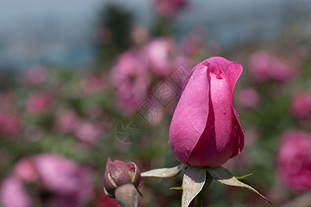
[(15, 115), (0, 112), (0, 132), (17, 135), (21, 130), (21, 120)]

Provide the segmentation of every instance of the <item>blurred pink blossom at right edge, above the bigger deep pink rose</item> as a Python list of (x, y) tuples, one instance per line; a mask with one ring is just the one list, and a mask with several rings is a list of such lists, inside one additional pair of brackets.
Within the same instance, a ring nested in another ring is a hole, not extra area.
[(310, 119), (311, 117), (311, 95), (308, 92), (300, 91), (292, 98), (292, 115), (299, 120)]

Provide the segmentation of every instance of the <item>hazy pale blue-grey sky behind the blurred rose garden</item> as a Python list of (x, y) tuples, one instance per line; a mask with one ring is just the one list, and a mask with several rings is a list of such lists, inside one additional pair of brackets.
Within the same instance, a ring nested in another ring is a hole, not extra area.
[[(35, 63), (85, 66), (93, 63), (91, 47), (96, 12), (117, 3), (148, 26), (156, 14), (149, 0), (0, 0), (0, 69), (26, 68)], [(222, 46), (239, 39), (274, 38), (299, 12), (310, 25), (310, 0), (190, 0), (173, 22), (181, 37), (195, 26), (207, 26), (209, 38)]]

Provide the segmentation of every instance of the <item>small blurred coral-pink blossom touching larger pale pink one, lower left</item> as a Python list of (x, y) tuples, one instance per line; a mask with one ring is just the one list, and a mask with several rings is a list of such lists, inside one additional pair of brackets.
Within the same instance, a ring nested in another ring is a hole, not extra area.
[(30, 158), (23, 158), (15, 165), (15, 176), (22, 181), (30, 183), (38, 179), (38, 174), (35, 169), (35, 164)]

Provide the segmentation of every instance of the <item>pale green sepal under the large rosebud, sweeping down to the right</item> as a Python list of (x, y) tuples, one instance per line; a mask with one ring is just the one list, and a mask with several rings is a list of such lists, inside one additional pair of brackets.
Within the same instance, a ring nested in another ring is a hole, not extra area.
[[(254, 193), (261, 196), (263, 199), (265, 199), (269, 204), (273, 206), (273, 204), (266, 197), (258, 193), (258, 191), (255, 190), (255, 188), (247, 184), (243, 184), (243, 182), (239, 181), (236, 177), (234, 177), (234, 175), (232, 175), (231, 172), (229, 172), (229, 170), (223, 168), (223, 166), (219, 166), (217, 168), (207, 168), (207, 172), (209, 172), (209, 174), (211, 174), (211, 176), (214, 177), (214, 179), (216, 179), (216, 181), (220, 182), (221, 184), (225, 184), (227, 186), (247, 188), (248, 190), (252, 190)], [(248, 175), (241, 177), (247, 176)]]

